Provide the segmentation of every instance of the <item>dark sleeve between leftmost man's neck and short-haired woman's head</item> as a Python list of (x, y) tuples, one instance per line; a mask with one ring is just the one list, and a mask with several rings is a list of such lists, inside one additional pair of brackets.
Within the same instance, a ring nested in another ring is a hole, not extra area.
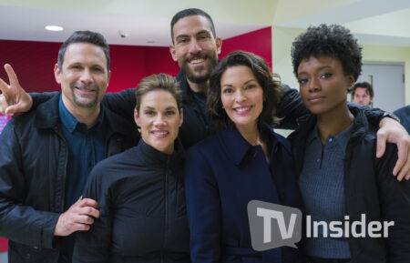
[(135, 91), (137, 88), (128, 88), (120, 92), (107, 93), (101, 103), (108, 109), (125, 117), (129, 122), (134, 122), (134, 108), (137, 103)]

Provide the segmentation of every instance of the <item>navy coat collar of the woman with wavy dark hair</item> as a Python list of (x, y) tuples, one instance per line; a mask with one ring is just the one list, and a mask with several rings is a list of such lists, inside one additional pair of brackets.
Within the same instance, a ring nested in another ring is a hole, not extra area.
[[(275, 148), (277, 144), (284, 146), (285, 142), (273, 132), (270, 126), (265, 126), (263, 133), (272, 138), (272, 149)], [(228, 125), (225, 130), (218, 132), (217, 136), (220, 139), (220, 146), (236, 166), (241, 165), (248, 157), (252, 156), (255, 147), (259, 147), (251, 146), (251, 144), (241, 136), (241, 133), (233, 124)]]

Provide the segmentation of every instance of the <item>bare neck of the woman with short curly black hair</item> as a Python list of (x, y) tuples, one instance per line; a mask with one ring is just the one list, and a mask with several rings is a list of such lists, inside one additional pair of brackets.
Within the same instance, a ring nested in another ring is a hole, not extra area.
[(322, 144), (329, 136), (335, 136), (343, 132), (346, 128), (352, 125), (354, 115), (350, 112), (347, 105), (340, 108), (337, 112), (317, 116), (317, 126)]

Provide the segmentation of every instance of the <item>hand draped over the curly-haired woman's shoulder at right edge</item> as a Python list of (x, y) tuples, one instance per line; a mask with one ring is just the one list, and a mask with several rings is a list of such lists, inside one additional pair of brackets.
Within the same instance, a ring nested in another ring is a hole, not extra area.
[(383, 157), (386, 142), (397, 145), (398, 159), (393, 169), (397, 180), (410, 179), (410, 137), (403, 126), (390, 117), (380, 121), (377, 131), (377, 157)]

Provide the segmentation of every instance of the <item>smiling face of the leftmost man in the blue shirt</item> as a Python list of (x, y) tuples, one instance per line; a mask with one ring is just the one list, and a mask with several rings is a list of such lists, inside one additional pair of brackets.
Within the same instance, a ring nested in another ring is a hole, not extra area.
[(107, 58), (99, 46), (88, 43), (67, 46), (62, 68), (56, 65), (54, 72), (69, 111), (93, 109), (106, 94), (110, 74)]

